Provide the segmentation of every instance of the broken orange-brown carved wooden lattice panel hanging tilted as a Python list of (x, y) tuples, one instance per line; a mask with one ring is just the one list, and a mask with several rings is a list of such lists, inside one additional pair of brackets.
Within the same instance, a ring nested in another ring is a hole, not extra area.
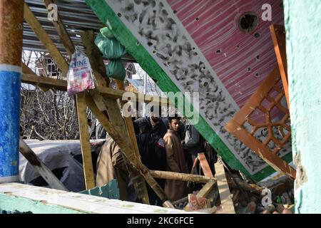
[(275, 170), (295, 178), (295, 169), (279, 156), (291, 138), (289, 111), (281, 104), (284, 97), (280, 71), (275, 66), (225, 128)]

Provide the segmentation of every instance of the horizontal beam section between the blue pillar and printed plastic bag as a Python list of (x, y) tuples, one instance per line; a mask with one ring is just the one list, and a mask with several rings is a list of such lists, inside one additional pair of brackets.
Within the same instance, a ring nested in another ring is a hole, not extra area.
[(56, 88), (57, 90), (67, 90), (67, 81), (65, 80), (58, 80), (54, 78), (46, 78), (36, 76), (35, 74), (26, 74), (23, 73), (21, 75), (21, 82), (34, 84), (36, 86), (41, 86), (44, 88)]

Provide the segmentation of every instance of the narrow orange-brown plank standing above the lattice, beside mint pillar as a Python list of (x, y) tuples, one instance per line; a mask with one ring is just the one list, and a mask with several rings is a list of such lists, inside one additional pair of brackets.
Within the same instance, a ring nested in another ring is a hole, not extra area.
[(289, 98), (289, 83), (287, 81), (287, 51), (285, 43), (285, 27), (282, 25), (270, 26), (270, 33), (274, 44), (275, 55), (277, 57), (277, 64), (280, 68), (282, 84), (285, 91), (285, 98), (287, 99), (287, 106), (290, 107)]

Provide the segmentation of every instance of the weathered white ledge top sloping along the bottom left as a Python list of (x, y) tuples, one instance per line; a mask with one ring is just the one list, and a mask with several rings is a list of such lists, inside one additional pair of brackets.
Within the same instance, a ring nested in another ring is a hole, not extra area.
[(33, 199), (46, 204), (54, 204), (68, 209), (98, 214), (182, 214), (191, 213), (180, 209), (107, 199), (81, 193), (52, 190), (45, 187), (6, 183), (0, 185), (0, 194)]

